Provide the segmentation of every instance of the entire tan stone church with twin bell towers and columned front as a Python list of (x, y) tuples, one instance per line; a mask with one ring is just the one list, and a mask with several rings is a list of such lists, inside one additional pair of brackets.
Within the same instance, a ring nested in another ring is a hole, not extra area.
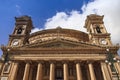
[(16, 17), (8, 45), (1, 46), (0, 80), (120, 80), (119, 46), (103, 18), (88, 15), (88, 33), (61, 27), (31, 33), (31, 18)]

